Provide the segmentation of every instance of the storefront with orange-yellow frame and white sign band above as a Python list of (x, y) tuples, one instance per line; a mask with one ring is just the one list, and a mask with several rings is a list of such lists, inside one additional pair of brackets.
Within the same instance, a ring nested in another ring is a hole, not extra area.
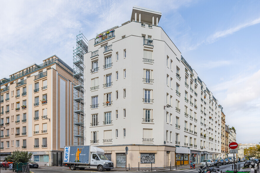
[(176, 150), (175, 150), (176, 165), (190, 164), (189, 157), (190, 157), (189, 148), (176, 147)]

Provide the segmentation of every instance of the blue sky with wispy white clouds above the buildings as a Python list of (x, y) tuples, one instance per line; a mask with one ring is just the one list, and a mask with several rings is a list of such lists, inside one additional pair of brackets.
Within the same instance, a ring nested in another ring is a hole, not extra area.
[(159, 26), (224, 107), (237, 142), (260, 142), (260, 1), (1, 1), (0, 78), (54, 54), (73, 66), (79, 31), (90, 40), (121, 26), (134, 5), (162, 12)]

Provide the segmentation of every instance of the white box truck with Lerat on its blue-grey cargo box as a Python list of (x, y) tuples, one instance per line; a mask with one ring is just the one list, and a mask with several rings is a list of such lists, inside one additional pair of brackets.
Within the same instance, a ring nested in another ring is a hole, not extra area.
[(108, 160), (103, 149), (90, 145), (65, 146), (63, 163), (71, 170), (92, 168), (110, 171), (114, 168), (113, 162)]

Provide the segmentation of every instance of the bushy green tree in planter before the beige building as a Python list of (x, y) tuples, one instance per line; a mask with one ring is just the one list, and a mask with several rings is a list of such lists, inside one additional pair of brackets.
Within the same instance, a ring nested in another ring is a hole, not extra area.
[(5, 160), (14, 163), (27, 163), (32, 157), (32, 153), (15, 150), (11, 155), (6, 156)]

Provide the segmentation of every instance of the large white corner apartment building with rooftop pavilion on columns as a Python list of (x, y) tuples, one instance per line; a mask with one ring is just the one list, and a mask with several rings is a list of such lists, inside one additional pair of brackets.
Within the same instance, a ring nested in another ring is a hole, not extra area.
[(91, 39), (84, 55), (84, 144), (104, 149), (115, 167), (220, 157), (218, 100), (158, 26), (160, 17), (135, 6), (130, 21)]

